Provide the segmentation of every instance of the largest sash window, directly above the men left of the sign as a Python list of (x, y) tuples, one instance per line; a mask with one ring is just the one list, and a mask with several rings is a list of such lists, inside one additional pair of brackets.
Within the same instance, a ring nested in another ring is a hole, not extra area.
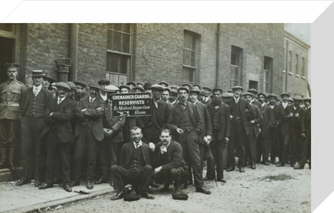
[(111, 84), (126, 84), (131, 68), (130, 24), (108, 24), (106, 79)]

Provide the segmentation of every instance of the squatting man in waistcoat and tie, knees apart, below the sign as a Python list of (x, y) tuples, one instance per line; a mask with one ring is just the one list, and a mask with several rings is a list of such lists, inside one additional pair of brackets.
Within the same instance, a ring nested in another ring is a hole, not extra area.
[(111, 166), (113, 188), (118, 191), (111, 200), (118, 200), (125, 196), (125, 185), (133, 184), (141, 197), (154, 199), (148, 194), (148, 187), (152, 180), (153, 168), (150, 165), (150, 148), (141, 141), (141, 128), (133, 127), (130, 130), (131, 141), (125, 143), (120, 150), (119, 166)]

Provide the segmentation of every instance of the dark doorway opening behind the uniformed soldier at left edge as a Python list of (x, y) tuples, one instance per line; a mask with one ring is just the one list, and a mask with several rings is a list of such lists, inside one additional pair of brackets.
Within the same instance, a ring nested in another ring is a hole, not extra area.
[(15, 39), (0, 37), (0, 83), (8, 79), (5, 63), (14, 63)]

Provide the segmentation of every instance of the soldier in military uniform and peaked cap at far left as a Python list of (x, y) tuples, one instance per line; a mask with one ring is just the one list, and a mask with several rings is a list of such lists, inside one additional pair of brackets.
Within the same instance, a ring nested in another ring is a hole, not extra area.
[(17, 81), (17, 63), (8, 63), (8, 81), (0, 84), (0, 168), (6, 167), (14, 169), (14, 152), (18, 141), (19, 133), (17, 129), (17, 113), (21, 95), (26, 90), (23, 83)]

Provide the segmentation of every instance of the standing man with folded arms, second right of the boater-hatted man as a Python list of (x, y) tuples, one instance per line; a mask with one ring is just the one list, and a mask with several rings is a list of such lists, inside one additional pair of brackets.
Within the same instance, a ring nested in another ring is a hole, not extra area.
[(95, 164), (97, 155), (97, 143), (104, 139), (102, 115), (104, 112), (104, 101), (100, 98), (100, 85), (90, 83), (89, 96), (81, 99), (78, 103), (75, 115), (77, 116), (77, 127), (74, 137), (77, 141), (74, 148), (74, 169), (71, 187), (80, 184), (81, 163), (87, 153), (86, 187), (93, 189), (95, 178)]

